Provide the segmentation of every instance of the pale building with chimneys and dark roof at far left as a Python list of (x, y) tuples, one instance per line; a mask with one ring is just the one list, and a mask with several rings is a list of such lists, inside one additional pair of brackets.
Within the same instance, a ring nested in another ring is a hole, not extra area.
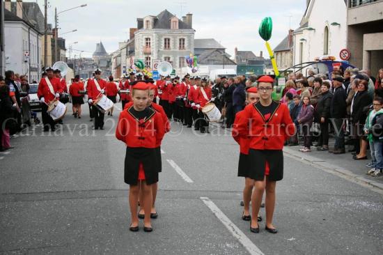
[(30, 82), (40, 78), (41, 38), (37, 24), (23, 18), (23, 8), (18, 4), (13, 13), (10, 2), (4, 8), (4, 38), (6, 70), (26, 75)]

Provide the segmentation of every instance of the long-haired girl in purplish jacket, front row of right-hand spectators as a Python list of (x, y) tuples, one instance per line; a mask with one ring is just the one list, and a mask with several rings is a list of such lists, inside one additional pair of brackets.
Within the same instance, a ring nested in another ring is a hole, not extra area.
[(311, 125), (313, 125), (314, 107), (310, 104), (310, 97), (304, 95), (302, 99), (303, 105), (301, 112), (299, 112), (297, 121), (302, 128), (304, 137), (304, 147), (300, 151), (308, 153), (311, 151)]

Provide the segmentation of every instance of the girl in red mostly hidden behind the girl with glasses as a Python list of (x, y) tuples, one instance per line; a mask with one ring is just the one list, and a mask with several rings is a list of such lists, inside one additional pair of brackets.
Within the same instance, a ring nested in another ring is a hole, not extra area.
[[(254, 104), (259, 100), (259, 94), (256, 87), (251, 87), (247, 91), (247, 104)], [(235, 115), (235, 121), (233, 124), (233, 130), (231, 132), (234, 140), (240, 145), (240, 161), (238, 162), (238, 176), (244, 177), (244, 190), (243, 190), (243, 201), (244, 201), (244, 210), (242, 212), (242, 219), (249, 221), (251, 219), (249, 204), (251, 201), (251, 192), (253, 192), (254, 180), (249, 178), (249, 137), (241, 137), (238, 135), (237, 123), (244, 116), (244, 111), (240, 111)], [(258, 216), (258, 222), (262, 221), (262, 217)]]

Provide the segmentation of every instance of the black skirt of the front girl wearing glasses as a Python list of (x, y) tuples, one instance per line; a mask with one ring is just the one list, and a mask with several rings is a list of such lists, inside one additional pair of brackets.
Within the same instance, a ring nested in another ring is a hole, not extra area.
[(264, 180), (266, 161), (269, 162), (268, 180), (283, 179), (283, 151), (282, 150), (249, 150), (249, 178)]

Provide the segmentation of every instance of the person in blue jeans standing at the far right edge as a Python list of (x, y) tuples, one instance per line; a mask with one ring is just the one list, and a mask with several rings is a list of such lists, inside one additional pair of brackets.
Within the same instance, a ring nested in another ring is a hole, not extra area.
[(373, 168), (367, 174), (371, 176), (382, 175), (383, 169), (383, 98), (374, 98), (373, 111), (367, 116), (364, 132), (370, 143)]

